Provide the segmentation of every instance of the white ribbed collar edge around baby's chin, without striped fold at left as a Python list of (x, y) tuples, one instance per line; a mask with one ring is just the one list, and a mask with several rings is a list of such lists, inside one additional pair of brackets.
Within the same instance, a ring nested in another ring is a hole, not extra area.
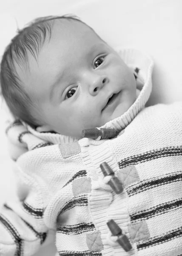
[[(133, 105), (131, 105), (128, 111), (101, 126), (101, 128), (114, 128), (119, 132), (134, 119), (142, 108), (145, 107), (152, 90), (151, 75), (154, 64), (148, 55), (145, 55), (138, 50), (121, 50), (118, 48), (116, 51), (119, 53), (125, 64), (127, 64), (128, 67), (130, 67), (133, 71), (137, 81), (137, 89), (139, 90), (139, 95), (137, 96), (136, 101)], [(69, 137), (57, 133), (40, 133), (35, 131), (30, 126), (27, 126), (27, 128), (28, 131), (30, 131), (34, 136), (54, 144), (68, 144), (78, 140), (75, 137)]]

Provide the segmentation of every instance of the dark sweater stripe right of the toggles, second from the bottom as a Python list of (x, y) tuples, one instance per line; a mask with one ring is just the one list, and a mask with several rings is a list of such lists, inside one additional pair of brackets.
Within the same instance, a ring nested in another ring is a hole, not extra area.
[(164, 204), (159, 204), (156, 207), (151, 207), (150, 209), (131, 214), (130, 218), (132, 222), (138, 220), (146, 220), (156, 215), (164, 214), (170, 211), (171, 209), (176, 209), (179, 207), (182, 207), (182, 199), (173, 200)]

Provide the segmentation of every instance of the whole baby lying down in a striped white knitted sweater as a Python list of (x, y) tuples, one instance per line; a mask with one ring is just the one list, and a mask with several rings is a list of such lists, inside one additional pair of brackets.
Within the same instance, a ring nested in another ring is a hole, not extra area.
[(0, 255), (33, 255), (49, 230), (65, 256), (182, 253), (182, 104), (144, 108), (152, 68), (71, 16), (11, 41), (0, 81), (18, 188)]

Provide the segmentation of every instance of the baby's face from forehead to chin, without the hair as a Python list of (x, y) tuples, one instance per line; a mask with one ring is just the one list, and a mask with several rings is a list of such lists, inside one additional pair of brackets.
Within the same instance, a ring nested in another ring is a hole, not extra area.
[(21, 70), (20, 78), (37, 104), (33, 115), (43, 130), (74, 137), (120, 116), (136, 99), (134, 74), (79, 21), (56, 21), (50, 41), (37, 61), (29, 56), (29, 70)]

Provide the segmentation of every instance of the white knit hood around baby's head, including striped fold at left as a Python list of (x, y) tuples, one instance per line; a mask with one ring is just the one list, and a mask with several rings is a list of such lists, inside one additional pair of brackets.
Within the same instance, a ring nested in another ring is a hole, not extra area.
[[(133, 105), (121, 116), (107, 122), (102, 125), (102, 128), (114, 128), (117, 132), (124, 129), (134, 117), (145, 107), (146, 102), (151, 94), (152, 82), (151, 75), (153, 70), (153, 61), (144, 53), (135, 49), (116, 49), (122, 60), (128, 67), (131, 68), (132, 72), (137, 81), (137, 89), (139, 90), (139, 95)], [(16, 160), (22, 153), (32, 148), (37, 148), (38, 145), (51, 145), (51, 144), (68, 144), (78, 139), (75, 137), (69, 137), (62, 134), (51, 133), (51, 132), (37, 132), (30, 126), (19, 121), (15, 121), (9, 125), (6, 130), (9, 137), (10, 144), (14, 144), (17, 154), (12, 155), (14, 152), (14, 147), (12, 145), (10, 148), (11, 157)], [(16, 134), (16, 135), (15, 135)], [(28, 136), (27, 136), (28, 134)], [(26, 135), (26, 136), (25, 136)], [(29, 137), (28, 141), (27, 138)]]

